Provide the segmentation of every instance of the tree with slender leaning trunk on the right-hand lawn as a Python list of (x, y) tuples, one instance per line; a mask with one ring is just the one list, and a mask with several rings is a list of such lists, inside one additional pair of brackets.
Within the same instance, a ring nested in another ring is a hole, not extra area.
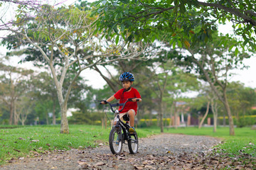
[[(188, 47), (190, 55), (182, 60), (188, 62), (188, 67), (196, 69), (196, 72), (201, 75), (200, 78), (208, 82), (210, 88), (223, 103), (228, 114), (230, 135), (235, 135), (233, 115), (227, 97), (228, 79), (231, 75), (230, 70), (245, 67), (242, 60), (250, 55), (243, 50), (230, 51), (230, 48), (238, 45), (235, 38), (230, 38), (228, 35), (218, 36), (216, 33), (212, 35), (213, 38), (210, 38), (208, 42), (198, 42), (198, 45)], [(220, 41), (225, 41), (227, 44), (219, 45)], [(217, 89), (217, 86), (220, 87), (220, 90)]]

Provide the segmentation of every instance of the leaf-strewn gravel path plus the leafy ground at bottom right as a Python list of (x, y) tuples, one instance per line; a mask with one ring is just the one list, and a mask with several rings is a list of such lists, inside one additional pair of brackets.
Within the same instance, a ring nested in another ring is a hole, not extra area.
[[(256, 166), (255, 157), (242, 151), (230, 155), (217, 147), (210, 149), (220, 143), (210, 137), (158, 135), (153, 138), (140, 140), (137, 154), (129, 154), (126, 145), (120, 155), (111, 154), (106, 145), (68, 151), (31, 151), (32, 158), (12, 159), (16, 164), (0, 166), (0, 169), (24, 169), (25, 166), (26, 169), (255, 169)], [(166, 140), (169, 138), (172, 140)], [(183, 145), (182, 142), (188, 140), (190, 144)], [(215, 141), (210, 143), (210, 140)], [(202, 145), (202, 141), (206, 144)]]

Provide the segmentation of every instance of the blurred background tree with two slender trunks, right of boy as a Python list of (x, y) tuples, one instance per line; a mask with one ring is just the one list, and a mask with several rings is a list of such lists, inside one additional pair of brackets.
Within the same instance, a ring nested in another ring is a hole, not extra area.
[[(151, 74), (154, 77), (149, 82), (149, 86), (153, 89), (155, 99), (158, 101), (157, 106), (159, 111), (159, 121), (161, 132), (164, 132), (164, 106), (165, 101), (172, 101), (171, 105), (174, 106), (174, 125), (176, 125), (176, 102), (181, 100), (181, 95), (186, 91), (196, 89), (198, 82), (193, 74), (183, 72), (181, 67), (175, 65), (172, 60), (178, 57), (176, 51), (162, 50), (159, 52), (159, 57), (152, 59)], [(168, 103), (168, 102), (166, 102)]]

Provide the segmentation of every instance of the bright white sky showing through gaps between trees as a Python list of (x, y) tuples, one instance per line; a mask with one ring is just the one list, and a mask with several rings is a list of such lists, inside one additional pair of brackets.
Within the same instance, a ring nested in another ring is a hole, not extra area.
[[(94, 1), (94, 0), (88, 0), (88, 1)], [(74, 0), (65, 1), (66, 5), (70, 5), (74, 3), (75, 3)], [(228, 24), (225, 26), (219, 26), (219, 31), (223, 34), (233, 33), (233, 28), (231, 27), (230, 24)], [(0, 55), (4, 55), (5, 52), (6, 52), (6, 49), (0, 46)], [(18, 61), (19, 60), (17, 59), (12, 60), (10, 64), (18, 66), (18, 63), (17, 63)], [(256, 57), (252, 56), (250, 57), (250, 59), (244, 60), (244, 63), (247, 66), (249, 66), (249, 68), (244, 70), (240, 70), (240, 69), (233, 70), (232, 73), (234, 73), (235, 75), (233, 75), (233, 77), (230, 78), (230, 81), (240, 81), (243, 84), (245, 84), (245, 86), (256, 89), (256, 77), (254, 76), (254, 74), (256, 73)], [(23, 65), (23, 67), (31, 68), (33, 67), (33, 64), (26, 63)], [(81, 76), (87, 79), (88, 80), (87, 84), (92, 86), (95, 89), (102, 89), (103, 86), (106, 84), (104, 79), (100, 77), (99, 73), (90, 69), (86, 69), (85, 71), (83, 71), (81, 73)]]

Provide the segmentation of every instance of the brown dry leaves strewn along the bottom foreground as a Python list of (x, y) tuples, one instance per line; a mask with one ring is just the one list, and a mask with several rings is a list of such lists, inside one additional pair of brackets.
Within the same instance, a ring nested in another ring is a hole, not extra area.
[[(124, 152), (119, 156), (100, 154), (97, 157), (87, 156), (87, 159), (78, 161), (81, 169), (255, 169), (256, 159), (249, 155), (228, 157), (228, 155), (210, 152), (204, 154), (174, 154), (166, 156), (147, 154), (144, 157), (135, 157)], [(88, 158), (90, 162), (88, 162)], [(247, 160), (247, 162), (245, 162)]]

